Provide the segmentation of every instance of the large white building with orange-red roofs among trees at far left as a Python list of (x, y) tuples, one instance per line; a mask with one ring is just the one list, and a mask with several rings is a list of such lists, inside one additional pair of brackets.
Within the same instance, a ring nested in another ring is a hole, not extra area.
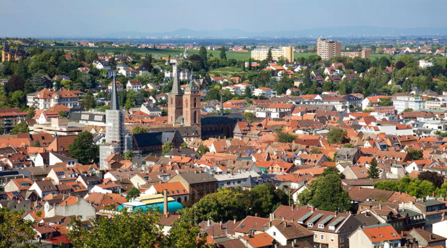
[(73, 108), (79, 105), (79, 96), (77, 92), (67, 89), (42, 89), (41, 91), (34, 92), (26, 95), (28, 107), (33, 106), (36, 109), (48, 109), (55, 105), (64, 105), (68, 108)]

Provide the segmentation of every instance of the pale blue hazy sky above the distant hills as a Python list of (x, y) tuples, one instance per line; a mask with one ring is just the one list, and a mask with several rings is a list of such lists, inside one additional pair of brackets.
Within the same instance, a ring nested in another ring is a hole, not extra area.
[[(0, 0), (0, 36), (446, 27), (446, 0)], [(437, 7), (438, 6), (438, 7)]]

